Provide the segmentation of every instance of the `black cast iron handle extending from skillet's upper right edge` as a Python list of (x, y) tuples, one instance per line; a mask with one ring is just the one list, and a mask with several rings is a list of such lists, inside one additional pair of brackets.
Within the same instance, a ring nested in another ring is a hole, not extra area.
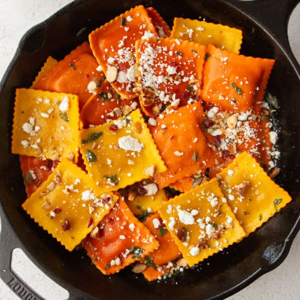
[(287, 36), (289, 16), (300, 0), (226, 0), (226, 2), (261, 25), (284, 49), (300, 74), (299, 64), (291, 51)]

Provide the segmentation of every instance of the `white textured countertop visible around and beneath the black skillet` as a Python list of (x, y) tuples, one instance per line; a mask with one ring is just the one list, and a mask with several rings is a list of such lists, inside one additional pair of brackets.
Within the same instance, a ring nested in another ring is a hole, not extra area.
[[(43, 21), (71, 0), (0, 0), (0, 78), (8, 66), (18, 41), (27, 29)], [(290, 44), (300, 62), (300, 4), (291, 15), (288, 26)], [(300, 233), (293, 241), (286, 259), (274, 270), (259, 277), (252, 284), (230, 296), (228, 300), (300, 299)], [(45, 299), (67, 298), (67, 292), (43, 275), (21, 250), (14, 250), (14, 270)], [(0, 279), (0, 299), (18, 297)]]

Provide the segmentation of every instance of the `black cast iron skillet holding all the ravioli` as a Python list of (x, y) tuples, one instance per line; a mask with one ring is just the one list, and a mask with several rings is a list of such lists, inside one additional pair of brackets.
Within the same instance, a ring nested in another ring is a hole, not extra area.
[[(26, 299), (40, 298), (10, 270), (11, 250), (15, 247), (23, 249), (44, 273), (66, 288), (70, 299), (219, 299), (281, 263), (300, 228), (300, 67), (291, 53), (286, 34), (288, 16), (297, 2), (110, 0), (107, 5), (107, 1), (75, 0), (31, 28), (21, 39), (0, 83), (0, 277), (4, 282), (23, 298), (26, 294)], [(91, 265), (82, 252), (65, 250), (21, 209), (26, 198), (21, 171), (17, 155), (10, 154), (15, 88), (29, 87), (48, 55), (62, 58), (86, 40), (92, 29), (136, 4), (155, 7), (170, 25), (174, 16), (202, 16), (208, 21), (242, 28), (241, 53), (276, 59), (267, 87), (278, 97), (280, 105), (276, 119), (281, 128), (281, 172), (276, 182), (293, 198), (280, 213), (240, 243), (162, 283), (147, 283), (143, 276), (136, 276), (129, 269), (107, 277)], [(77, 36), (83, 27), (86, 30)]]

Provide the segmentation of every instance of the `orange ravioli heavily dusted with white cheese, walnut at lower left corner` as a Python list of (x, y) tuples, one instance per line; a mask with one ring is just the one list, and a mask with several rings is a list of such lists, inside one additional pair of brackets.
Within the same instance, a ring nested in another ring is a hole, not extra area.
[(199, 100), (205, 46), (174, 38), (137, 40), (135, 56), (140, 86), (134, 91), (146, 115)]

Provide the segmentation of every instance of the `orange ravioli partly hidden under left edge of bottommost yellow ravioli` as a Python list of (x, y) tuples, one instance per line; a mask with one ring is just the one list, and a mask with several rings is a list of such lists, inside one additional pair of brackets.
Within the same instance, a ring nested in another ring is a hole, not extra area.
[[(152, 253), (149, 253), (147, 257), (147, 261), (150, 261), (151, 264), (153, 264), (155, 268), (157, 267), (159, 271), (160, 265), (171, 262), (172, 260), (180, 256), (181, 253), (177, 245), (174, 243), (174, 240), (171, 237), (170, 233), (167, 231), (165, 225), (163, 224), (158, 212), (149, 215), (143, 222), (143, 224), (150, 230), (151, 234), (154, 235), (155, 239), (159, 243), (159, 247)], [(153, 265), (148, 266), (148, 268), (154, 268)], [(144, 272), (147, 273), (146, 270)]]

